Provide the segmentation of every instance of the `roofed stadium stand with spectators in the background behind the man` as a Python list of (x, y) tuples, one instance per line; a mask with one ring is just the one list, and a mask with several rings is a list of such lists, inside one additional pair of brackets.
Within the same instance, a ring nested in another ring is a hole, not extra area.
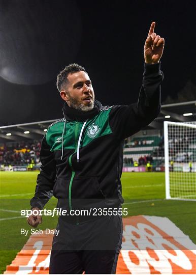
[[(162, 105), (157, 119), (145, 129), (125, 140), (124, 167), (146, 166), (148, 162), (155, 167), (164, 167), (164, 121), (174, 122), (195, 121), (196, 101)], [(191, 116), (184, 116), (187, 114)], [(18, 125), (0, 127), (0, 165), (28, 165), (32, 160), (39, 164), (39, 146), (48, 126), (58, 119), (40, 122), (31, 122)], [(25, 134), (26, 131), (28, 134)], [(179, 140), (180, 142), (180, 140)], [(170, 148), (172, 142), (170, 141)], [(179, 147), (179, 146), (177, 146)], [(180, 147), (179, 147), (180, 148)], [(172, 149), (172, 148), (171, 148)], [(192, 148), (192, 154), (195, 148)], [(186, 155), (184, 148), (184, 157)], [(175, 161), (180, 161), (176, 156)], [(157, 170), (160, 171), (160, 170)]]

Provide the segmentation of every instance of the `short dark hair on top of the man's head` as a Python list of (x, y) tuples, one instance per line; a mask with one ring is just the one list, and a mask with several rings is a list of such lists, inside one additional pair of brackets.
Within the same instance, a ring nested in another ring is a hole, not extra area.
[(86, 70), (84, 69), (84, 67), (73, 63), (70, 64), (68, 66), (66, 66), (62, 71), (59, 72), (59, 74), (57, 75), (57, 80), (56, 80), (56, 86), (58, 88), (58, 91), (62, 91), (62, 88), (64, 88), (64, 85), (66, 85), (66, 82), (68, 82), (68, 75), (71, 73), (75, 73), (75, 72), (80, 72), (80, 71), (84, 71), (85, 73)]

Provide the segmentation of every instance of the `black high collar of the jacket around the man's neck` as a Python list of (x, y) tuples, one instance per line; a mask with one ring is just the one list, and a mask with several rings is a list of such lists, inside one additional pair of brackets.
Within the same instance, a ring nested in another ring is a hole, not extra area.
[(69, 107), (68, 104), (64, 102), (62, 111), (63, 111), (64, 118), (66, 120), (82, 122), (96, 116), (100, 112), (101, 108), (102, 108), (102, 103), (98, 100), (94, 101), (94, 107), (89, 112), (79, 111), (75, 108)]

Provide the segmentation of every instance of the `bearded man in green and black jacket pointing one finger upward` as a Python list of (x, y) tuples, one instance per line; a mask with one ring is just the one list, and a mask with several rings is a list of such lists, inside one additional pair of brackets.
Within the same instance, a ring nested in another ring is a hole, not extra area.
[[(57, 77), (57, 88), (66, 101), (64, 118), (50, 125), (44, 136), (42, 170), (30, 202), (32, 210), (42, 209), (53, 194), (58, 207), (69, 213), (59, 216), (50, 273), (116, 272), (122, 242), (123, 141), (160, 111), (163, 76), (159, 60), (164, 39), (154, 33), (154, 27), (152, 22), (144, 45), (145, 71), (138, 103), (103, 107), (95, 100), (87, 72), (77, 64), (67, 66)], [(73, 210), (84, 209), (88, 215), (71, 215)], [(41, 216), (29, 216), (28, 223), (37, 227)]]

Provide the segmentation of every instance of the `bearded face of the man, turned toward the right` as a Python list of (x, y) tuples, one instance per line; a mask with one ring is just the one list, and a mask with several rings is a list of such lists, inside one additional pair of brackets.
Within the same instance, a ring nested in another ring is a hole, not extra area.
[(91, 80), (84, 71), (68, 75), (68, 83), (60, 96), (70, 107), (80, 111), (90, 111), (94, 106), (94, 91)]

